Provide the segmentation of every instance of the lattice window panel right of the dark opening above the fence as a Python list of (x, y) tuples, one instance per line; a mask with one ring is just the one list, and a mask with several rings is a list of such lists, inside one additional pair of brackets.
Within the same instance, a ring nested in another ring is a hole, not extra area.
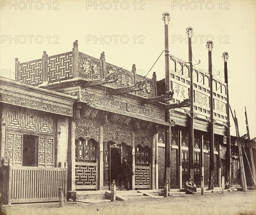
[(39, 137), (38, 164), (39, 166), (53, 166), (54, 139)]

